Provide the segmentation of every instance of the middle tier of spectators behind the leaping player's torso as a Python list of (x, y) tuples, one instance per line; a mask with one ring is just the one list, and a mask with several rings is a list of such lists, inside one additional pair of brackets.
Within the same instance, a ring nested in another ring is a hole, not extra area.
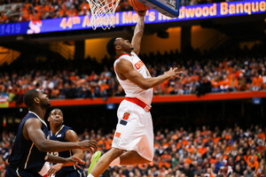
[[(210, 92), (266, 89), (266, 55), (263, 49), (264, 45), (259, 45), (252, 50), (216, 51), (204, 55), (197, 50), (181, 55), (176, 50), (140, 58), (153, 77), (172, 66), (183, 71), (182, 79), (161, 83), (154, 88), (154, 95), (202, 96)], [(110, 58), (101, 63), (91, 58), (78, 62), (56, 59), (35, 63), (33, 67), (22, 58), (0, 69), (0, 95), (8, 96), (9, 102), (16, 101), (17, 104), (22, 103), (25, 91), (33, 88), (43, 89), (51, 99), (124, 96)]]

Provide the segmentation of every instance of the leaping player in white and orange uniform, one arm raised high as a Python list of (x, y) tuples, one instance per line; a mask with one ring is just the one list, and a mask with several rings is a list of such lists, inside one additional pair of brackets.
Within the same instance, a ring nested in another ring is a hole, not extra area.
[[(153, 161), (153, 120), (150, 113), (153, 87), (172, 78), (181, 78), (177, 68), (152, 78), (137, 54), (144, 34), (145, 12), (139, 17), (132, 42), (114, 37), (107, 42), (108, 53), (116, 57), (114, 71), (126, 97), (118, 111), (118, 124), (113, 137), (112, 149), (98, 160), (88, 177), (98, 177), (108, 165), (134, 165)], [(99, 157), (99, 156), (94, 156)]]

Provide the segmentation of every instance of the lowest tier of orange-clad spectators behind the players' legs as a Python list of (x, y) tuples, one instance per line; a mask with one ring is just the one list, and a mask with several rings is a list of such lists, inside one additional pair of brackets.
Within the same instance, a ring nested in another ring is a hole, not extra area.
[[(167, 128), (157, 131), (154, 142), (154, 159), (147, 165), (109, 167), (104, 176), (113, 177), (254, 177), (264, 176), (265, 128), (251, 126), (247, 129), (227, 127), (198, 127), (195, 130)], [(80, 140), (94, 139), (103, 153), (110, 150), (113, 133), (85, 130)], [(0, 136), (0, 177), (8, 165), (14, 134)], [(92, 154), (84, 151), (83, 166), (86, 172)]]

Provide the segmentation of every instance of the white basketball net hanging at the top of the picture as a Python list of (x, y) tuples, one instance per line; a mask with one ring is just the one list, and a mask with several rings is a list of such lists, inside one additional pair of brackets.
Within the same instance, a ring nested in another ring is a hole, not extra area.
[(97, 27), (102, 27), (104, 30), (114, 27), (113, 14), (120, 0), (87, 0), (87, 2), (90, 4), (90, 23), (94, 30)]

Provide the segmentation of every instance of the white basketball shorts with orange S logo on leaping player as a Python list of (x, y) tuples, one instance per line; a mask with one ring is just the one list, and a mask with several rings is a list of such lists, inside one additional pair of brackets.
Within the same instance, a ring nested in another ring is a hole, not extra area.
[(113, 148), (135, 150), (153, 161), (153, 120), (150, 112), (123, 100), (117, 111), (118, 123), (113, 136)]

